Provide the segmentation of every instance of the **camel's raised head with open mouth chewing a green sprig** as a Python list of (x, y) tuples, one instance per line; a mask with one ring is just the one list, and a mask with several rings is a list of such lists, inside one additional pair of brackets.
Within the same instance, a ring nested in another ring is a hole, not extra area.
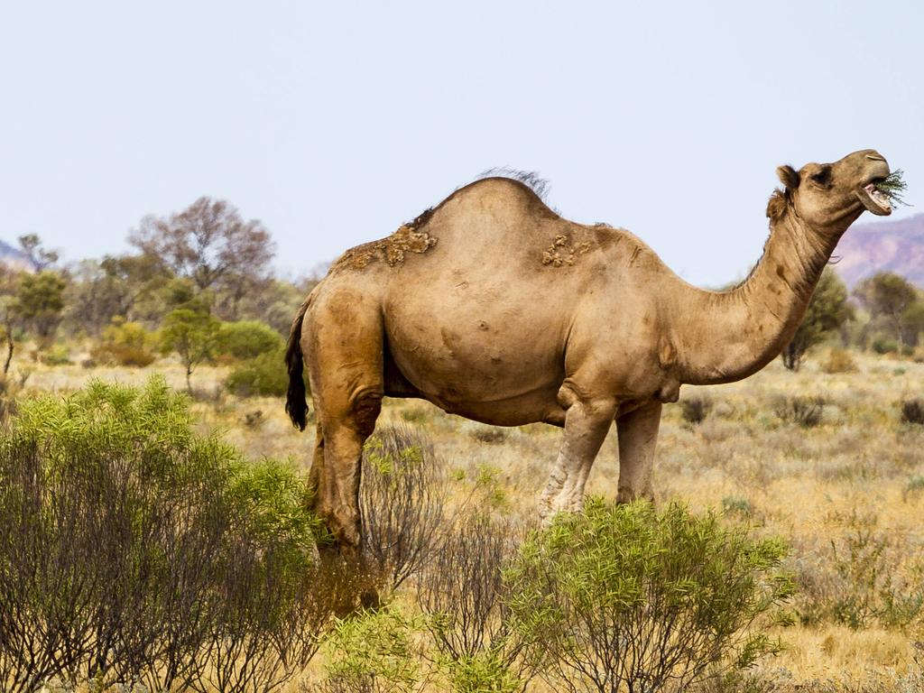
[(819, 230), (843, 232), (863, 210), (891, 214), (890, 196), (881, 188), (889, 164), (872, 149), (847, 154), (833, 164), (805, 164), (798, 171), (780, 166), (776, 175), (785, 186), (773, 194), (767, 216), (775, 220), (792, 208)]

